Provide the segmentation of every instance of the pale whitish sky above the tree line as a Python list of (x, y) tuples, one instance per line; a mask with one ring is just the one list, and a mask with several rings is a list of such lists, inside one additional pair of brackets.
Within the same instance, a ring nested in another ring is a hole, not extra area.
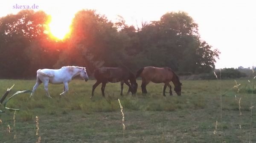
[[(215, 68), (256, 65), (256, 2), (253, 0), (8, 0), (0, 1), (0, 17), (16, 14), (13, 6), (35, 4), (57, 21), (70, 23), (81, 9), (94, 9), (108, 20), (122, 16), (128, 25), (160, 20), (167, 12), (185, 11), (198, 24), (201, 39), (221, 54)], [(65, 16), (65, 17), (64, 17)]]

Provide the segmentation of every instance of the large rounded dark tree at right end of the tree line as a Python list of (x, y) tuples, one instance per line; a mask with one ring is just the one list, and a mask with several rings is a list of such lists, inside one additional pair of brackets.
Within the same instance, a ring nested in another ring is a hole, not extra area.
[(219, 51), (198, 34), (198, 24), (185, 12), (169, 12), (137, 32), (140, 49), (156, 66), (181, 72), (202, 73), (214, 69)]

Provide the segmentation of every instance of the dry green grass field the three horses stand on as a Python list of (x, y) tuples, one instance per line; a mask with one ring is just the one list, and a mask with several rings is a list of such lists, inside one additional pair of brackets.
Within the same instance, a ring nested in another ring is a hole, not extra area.
[[(41, 143), (256, 142), (256, 112), (250, 108), (251, 102), (254, 106), (256, 101), (249, 89), (254, 85), (252, 81), (237, 80), (241, 84), (239, 93), (232, 88), (236, 85), (234, 80), (181, 82), (182, 95), (177, 96), (173, 91), (173, 96), (166, 94), (166, 97), (162, 95), (163, 84), (153, 83), (147, 86), (148, 94), (142, 95), (140, 80), (136, 96), (120, 96), (120, 84), (109, 83), (106, 98), (102, 98), (100, 86), (90, 98), (93, 80), (71, 81), (69, 93), (62, 97), (59, 94), (63, 85), (50, 84), (52, 98), (45, 96), (40, 85), (32, 98), (21, 94), (7, 104), (20, 109), (15, 115), (15, 126), (14, 112), (0, 114), (0, 143), (36, 143), (39, 136)], [(35, 80), (1, 79), (0, 95), (13, 84), (12, 93), (32, 90)], [(128, 88), (124, 87), (126, 93)], [(125, 130), (118, 98), (125, 116)], [(39, 135), (36, 135), (36, 116)]]

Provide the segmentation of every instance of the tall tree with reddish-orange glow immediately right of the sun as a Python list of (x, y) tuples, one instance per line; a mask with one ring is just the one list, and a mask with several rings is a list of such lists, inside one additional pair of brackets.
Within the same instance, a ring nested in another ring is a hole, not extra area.
[(63, 64), (84, 65), (94, 70), (95, 63), (117, 66), (125, 59), (125, 37), (113, 23), (96, 11), (76, 13), (72, 23), (70, 42), (55, 66)]

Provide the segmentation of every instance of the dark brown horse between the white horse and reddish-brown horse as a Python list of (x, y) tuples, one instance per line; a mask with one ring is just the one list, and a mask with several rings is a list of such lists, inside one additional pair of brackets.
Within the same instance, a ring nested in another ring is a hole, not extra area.
[[(122, 95), (124, 83), (129, 87), (128, 93), (131, 91), (132, 95), (134, 95), (137, 92), (138, 84), (136, 82), (136, 78), (134, 74), (131, 73), (131, 71), (128, 70), (128, 68), (126, 67), (102, 67), (95, 70), (94, 77), (97, 81), (93, 85), (92, 97), (93, 97), (95, 88), (100, 83), (102, 83), (102, 87), (101, 87), (102, 96), (105, 97), (104, 90), (105, 90), (106, 83), (108, 82), (112, 82), (112, 83), (121, 82), (121, 95)], [(130, 80), (131, 85), (128, 82), (128, 80)]]

